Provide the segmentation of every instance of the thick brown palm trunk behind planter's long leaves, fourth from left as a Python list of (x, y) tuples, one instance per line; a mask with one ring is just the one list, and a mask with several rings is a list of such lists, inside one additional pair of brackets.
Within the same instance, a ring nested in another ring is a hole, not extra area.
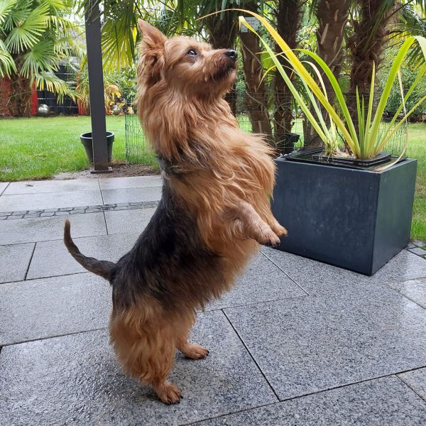
[[(319, 27), (317, 30), (317, 54), (332, 70), (334, 77), (339, 79), (342, 70), (342, 62), (344, 60), (343, 40), (344, 28), (348, 21), (349, 0), (320, 0), (317, 6), (317, 19)], [(329, 101), (334, 102), (334, 92), (332, 84), (321, 72), (324, 80), (324, 86), (329, 97)], [(327, 114), (324, 109), (323, 116)], [(305, 147), (312, 148), (321, 146), (322, 141), (315, 132), (312, 125), (305, 121), (304, 123)]]

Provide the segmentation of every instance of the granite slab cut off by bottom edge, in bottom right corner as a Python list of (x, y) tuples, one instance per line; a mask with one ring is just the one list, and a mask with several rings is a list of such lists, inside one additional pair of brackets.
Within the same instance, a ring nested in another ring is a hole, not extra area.
[(253, 408), (199, 426), (421, 426), (426, 404), (395, 376)]

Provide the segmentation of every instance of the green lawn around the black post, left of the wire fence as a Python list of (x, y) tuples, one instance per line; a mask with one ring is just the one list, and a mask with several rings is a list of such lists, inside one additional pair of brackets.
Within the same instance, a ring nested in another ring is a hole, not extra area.
[[(0, 120), (0, 181), (51, 178), (89, 168), (80, 134), (90, 131), (89, 116)], [(126, 160), (124, 116), (107, 116), (115, 134), (113, 160)]]

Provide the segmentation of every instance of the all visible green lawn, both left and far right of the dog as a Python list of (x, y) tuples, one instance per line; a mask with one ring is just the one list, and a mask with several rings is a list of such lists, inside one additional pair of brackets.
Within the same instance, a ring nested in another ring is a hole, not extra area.
[[(124, 116), (107, 116), (107, 130), (115, 134), (113, 160), (124, 162)], [(80, 143), (80, 134), (86, 131), (90, 131), (87, 116), (1, 119), (0, 181), (46, 179), (87, 169)], [(410, 124), (409, 139), (408, 155), (418, 159), (412, 236), (426, 241), (426, 124)]]

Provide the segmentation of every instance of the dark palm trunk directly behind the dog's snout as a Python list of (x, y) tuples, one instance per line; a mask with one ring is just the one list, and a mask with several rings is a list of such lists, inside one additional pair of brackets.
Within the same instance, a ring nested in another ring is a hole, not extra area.
[[(238, 19), (235, 11), (226, 11), (204, 19), (209, 31), (209, 43), (214, 49), (234, 48), (236, 33), (238, 31)], [(234, 88), (225, 96), (231, 111), (236, 114), (236, 94)]]

